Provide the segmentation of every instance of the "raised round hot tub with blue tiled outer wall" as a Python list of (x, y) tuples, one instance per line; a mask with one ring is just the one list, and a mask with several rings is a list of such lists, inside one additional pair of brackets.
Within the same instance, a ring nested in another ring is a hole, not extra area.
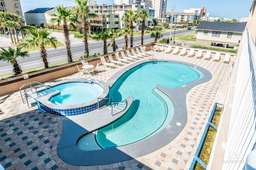
[(73, 116), (88, 113), (108, 102), (109, 87), (99, 80), (79, 78), (48, 85), (51, 90), (39, 89), (41, 96), (30, 95), (37, 105), (54, 115)]

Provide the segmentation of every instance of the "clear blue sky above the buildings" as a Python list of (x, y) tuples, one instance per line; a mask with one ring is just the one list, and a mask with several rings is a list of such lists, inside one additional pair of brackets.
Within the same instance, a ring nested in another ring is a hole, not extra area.
[[(183, 9), (189, 8), (206, 8), (206, 13), (210, 13), (210, 16), (221, 16), (230, 19), (240, 19), (248, 17), (250, 13), (250, 7), (252, 0), (167, 0), (166, 12), (170, 12), (172, 6), (176, 8), (174, 12), (182, 12)], [(36, 8), (54, 7), (58, 4), (64, 6), (75, 6), (74, 0), (20, 0), (22, 6), (22, 12), (34, 10)], [(97, 4), (113, 4), (114, 0), (100, 0)]]

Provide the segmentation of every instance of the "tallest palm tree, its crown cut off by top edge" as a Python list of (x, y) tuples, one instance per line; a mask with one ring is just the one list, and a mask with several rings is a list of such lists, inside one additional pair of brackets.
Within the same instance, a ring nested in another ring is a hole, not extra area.
[(90, 13), (90, 8), (89, 8), (89, 1), (88, 0), (76, 0), (77, 7), (76, 7), (76, 13), (80, 15), (82, 18), (82, 27), (83, 27), (83, 32), (84, 32), (84, 48), (85, 48), (85, 55), (89, 55), (89, 48), (88, 48), (88, 37), (87, 37), (87, 32), (88, 29), (90, 28), (88, 24), (89, 18), (96, 17), (96, 14), (91, 14)]

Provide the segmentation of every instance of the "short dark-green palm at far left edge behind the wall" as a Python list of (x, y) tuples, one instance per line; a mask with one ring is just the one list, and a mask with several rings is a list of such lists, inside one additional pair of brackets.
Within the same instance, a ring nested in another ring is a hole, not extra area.
[(29, 57), (28, 51), (21, 51), (21, 47), (9, 47), (8, 49), (0, 48), (0, 61), (7, 61), (8, 63), (11, 63), (13, 65), (12, 71), (15, 76), (22, 73), (21, 67), (17, 61), (18, 57)]

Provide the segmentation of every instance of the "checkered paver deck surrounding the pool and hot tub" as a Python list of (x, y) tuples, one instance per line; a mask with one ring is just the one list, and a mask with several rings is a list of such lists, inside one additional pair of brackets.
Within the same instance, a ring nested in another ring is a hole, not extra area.
[[(226, 80), (232, 63), (226, 64), (204, 59), (152, 52), (157, 59), (183, 61), (201, 66), (212, 74), (212, 79), (193, 87), (186, 95), (188, 121), (182, 132), (166, 146), (136, 159), (101, 166), (72, 166), (57, 154), (62, 134), (59, 116), (43, 113), (37, 107), (22, 104), (19, 92), (0, 96), (0, 163), (6, 169), (188, 169), (198, 147), (200, 137), (212, 106), (225, 91)], [(144, 58), (147, 59), (147, 58)], [(140, 59), (140, 60), (144, 60)], [(94, 78), (106, 82), (121, 68), (108, 68)], [(78, 78), (77, 74), (46, 82)], [(100, 159), (100, 158), (99, 158)]]

